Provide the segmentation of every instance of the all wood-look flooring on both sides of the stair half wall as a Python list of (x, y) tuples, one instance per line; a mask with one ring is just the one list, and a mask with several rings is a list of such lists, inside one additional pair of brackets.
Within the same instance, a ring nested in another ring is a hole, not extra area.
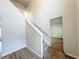
[[(63, 52), (63, 41), (61, 39), (55, 39), (56, 41), (52, 43), (52, 47), (49, 47), (44, 53), (43, 59), (75, 59), (67, 56)], [(19, 51), (13, 52), (7, 56), (2, 57), (2, 59), (41, 59), (29, 49), (24, 48)]]

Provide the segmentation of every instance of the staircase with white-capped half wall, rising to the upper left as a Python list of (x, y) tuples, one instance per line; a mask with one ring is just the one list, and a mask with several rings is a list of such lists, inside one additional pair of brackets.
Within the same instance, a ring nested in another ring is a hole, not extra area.
[(11, 0), (11, 3), (26, 17), (27, 48), (42, 58), (44, 51), (50, 46), (49, 35), (32, 21), (32, 13), (29, 7), (25, 7), (15, 0)]

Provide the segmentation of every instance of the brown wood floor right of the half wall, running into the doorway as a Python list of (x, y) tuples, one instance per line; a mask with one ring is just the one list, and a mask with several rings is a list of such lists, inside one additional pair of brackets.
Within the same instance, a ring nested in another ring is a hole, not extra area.
[(44, 59), (75, 59), (65, 55), (63, 51), (63, 40), (62, 39), (53, 39), (52, 47), (49, 47), (44, 53)]

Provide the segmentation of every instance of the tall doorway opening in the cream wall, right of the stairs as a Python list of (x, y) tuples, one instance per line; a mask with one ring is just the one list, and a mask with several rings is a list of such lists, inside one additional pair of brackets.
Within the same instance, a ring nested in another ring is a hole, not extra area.
[(50, 19), (51, 45), (63, 50), (63, 23), (62, 17)]

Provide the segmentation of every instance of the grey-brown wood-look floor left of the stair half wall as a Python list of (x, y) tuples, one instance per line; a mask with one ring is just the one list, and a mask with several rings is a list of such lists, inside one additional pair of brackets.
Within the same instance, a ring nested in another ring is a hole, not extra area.
[(7, 56), (2, 57), (2, 59), (41, 59), (29, 49), (24, 48), (19, 51), (13, 52)]

